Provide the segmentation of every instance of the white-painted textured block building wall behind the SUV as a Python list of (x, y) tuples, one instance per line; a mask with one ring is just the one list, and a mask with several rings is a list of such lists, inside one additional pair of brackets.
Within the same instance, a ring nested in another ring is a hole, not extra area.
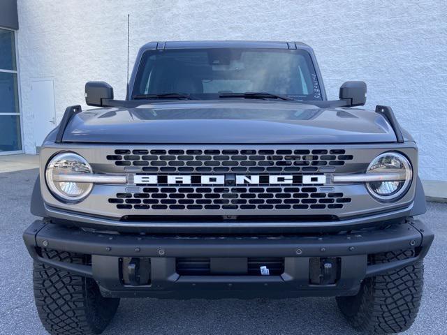
[(299, 40), (318, 57), (328, 96), (368, 85), (367, 107), (390, 105), (420, 148), (423, 179), (447, 180), (447, 10), (443, 0), (19, 0), (25, 150), (34, 151), (30, 78), (54, 77), (57, 121), (104, 80), (124, 98), (130, 59), (150, 40)]

